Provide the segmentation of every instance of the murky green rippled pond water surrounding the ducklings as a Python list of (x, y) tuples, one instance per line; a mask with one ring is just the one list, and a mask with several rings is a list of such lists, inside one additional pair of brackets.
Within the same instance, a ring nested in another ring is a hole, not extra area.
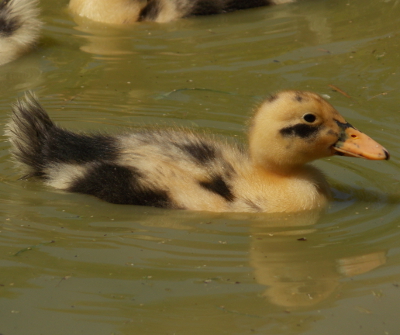
[(2, 141), (1, 334), (398, 333), (400, 1), (129, 28), (77, 26), (66, 4), (43, 0), (40, 46), (0, 68), (2, 128), (30, 89), (73, 129), (178, 124), (244, 141), (254, 104), (295, 88), (329, 95), (392, 159), (317, 162), (335, 192), (321, 218), (216, 215), (19, 181)]

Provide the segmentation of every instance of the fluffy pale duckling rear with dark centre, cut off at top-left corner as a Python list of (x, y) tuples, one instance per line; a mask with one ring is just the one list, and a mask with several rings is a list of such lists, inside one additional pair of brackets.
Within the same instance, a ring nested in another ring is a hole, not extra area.
[(0, 0), (0, 65), (32, 49), (42, 27), (38, 16), (38, 0)]

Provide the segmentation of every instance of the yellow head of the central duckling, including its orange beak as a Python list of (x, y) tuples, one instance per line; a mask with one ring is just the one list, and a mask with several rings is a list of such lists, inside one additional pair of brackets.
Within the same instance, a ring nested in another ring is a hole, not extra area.
[(255, 165), (281, 172), (332, 155), (389, 159), (388, 151), (361, 133), (318, 94), (282, 91), (265, 100), (249, 128)]

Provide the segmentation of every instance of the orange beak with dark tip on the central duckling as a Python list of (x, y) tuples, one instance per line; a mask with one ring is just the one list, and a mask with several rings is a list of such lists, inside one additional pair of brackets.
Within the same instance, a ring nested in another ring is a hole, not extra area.
[(358, 131), (349, 123), (336, 121), (340, 127), (340, 138), (333, 145), (336, 155), (361, 157), (372, 160), (388, 160), (389, 152), (371, 137)]

